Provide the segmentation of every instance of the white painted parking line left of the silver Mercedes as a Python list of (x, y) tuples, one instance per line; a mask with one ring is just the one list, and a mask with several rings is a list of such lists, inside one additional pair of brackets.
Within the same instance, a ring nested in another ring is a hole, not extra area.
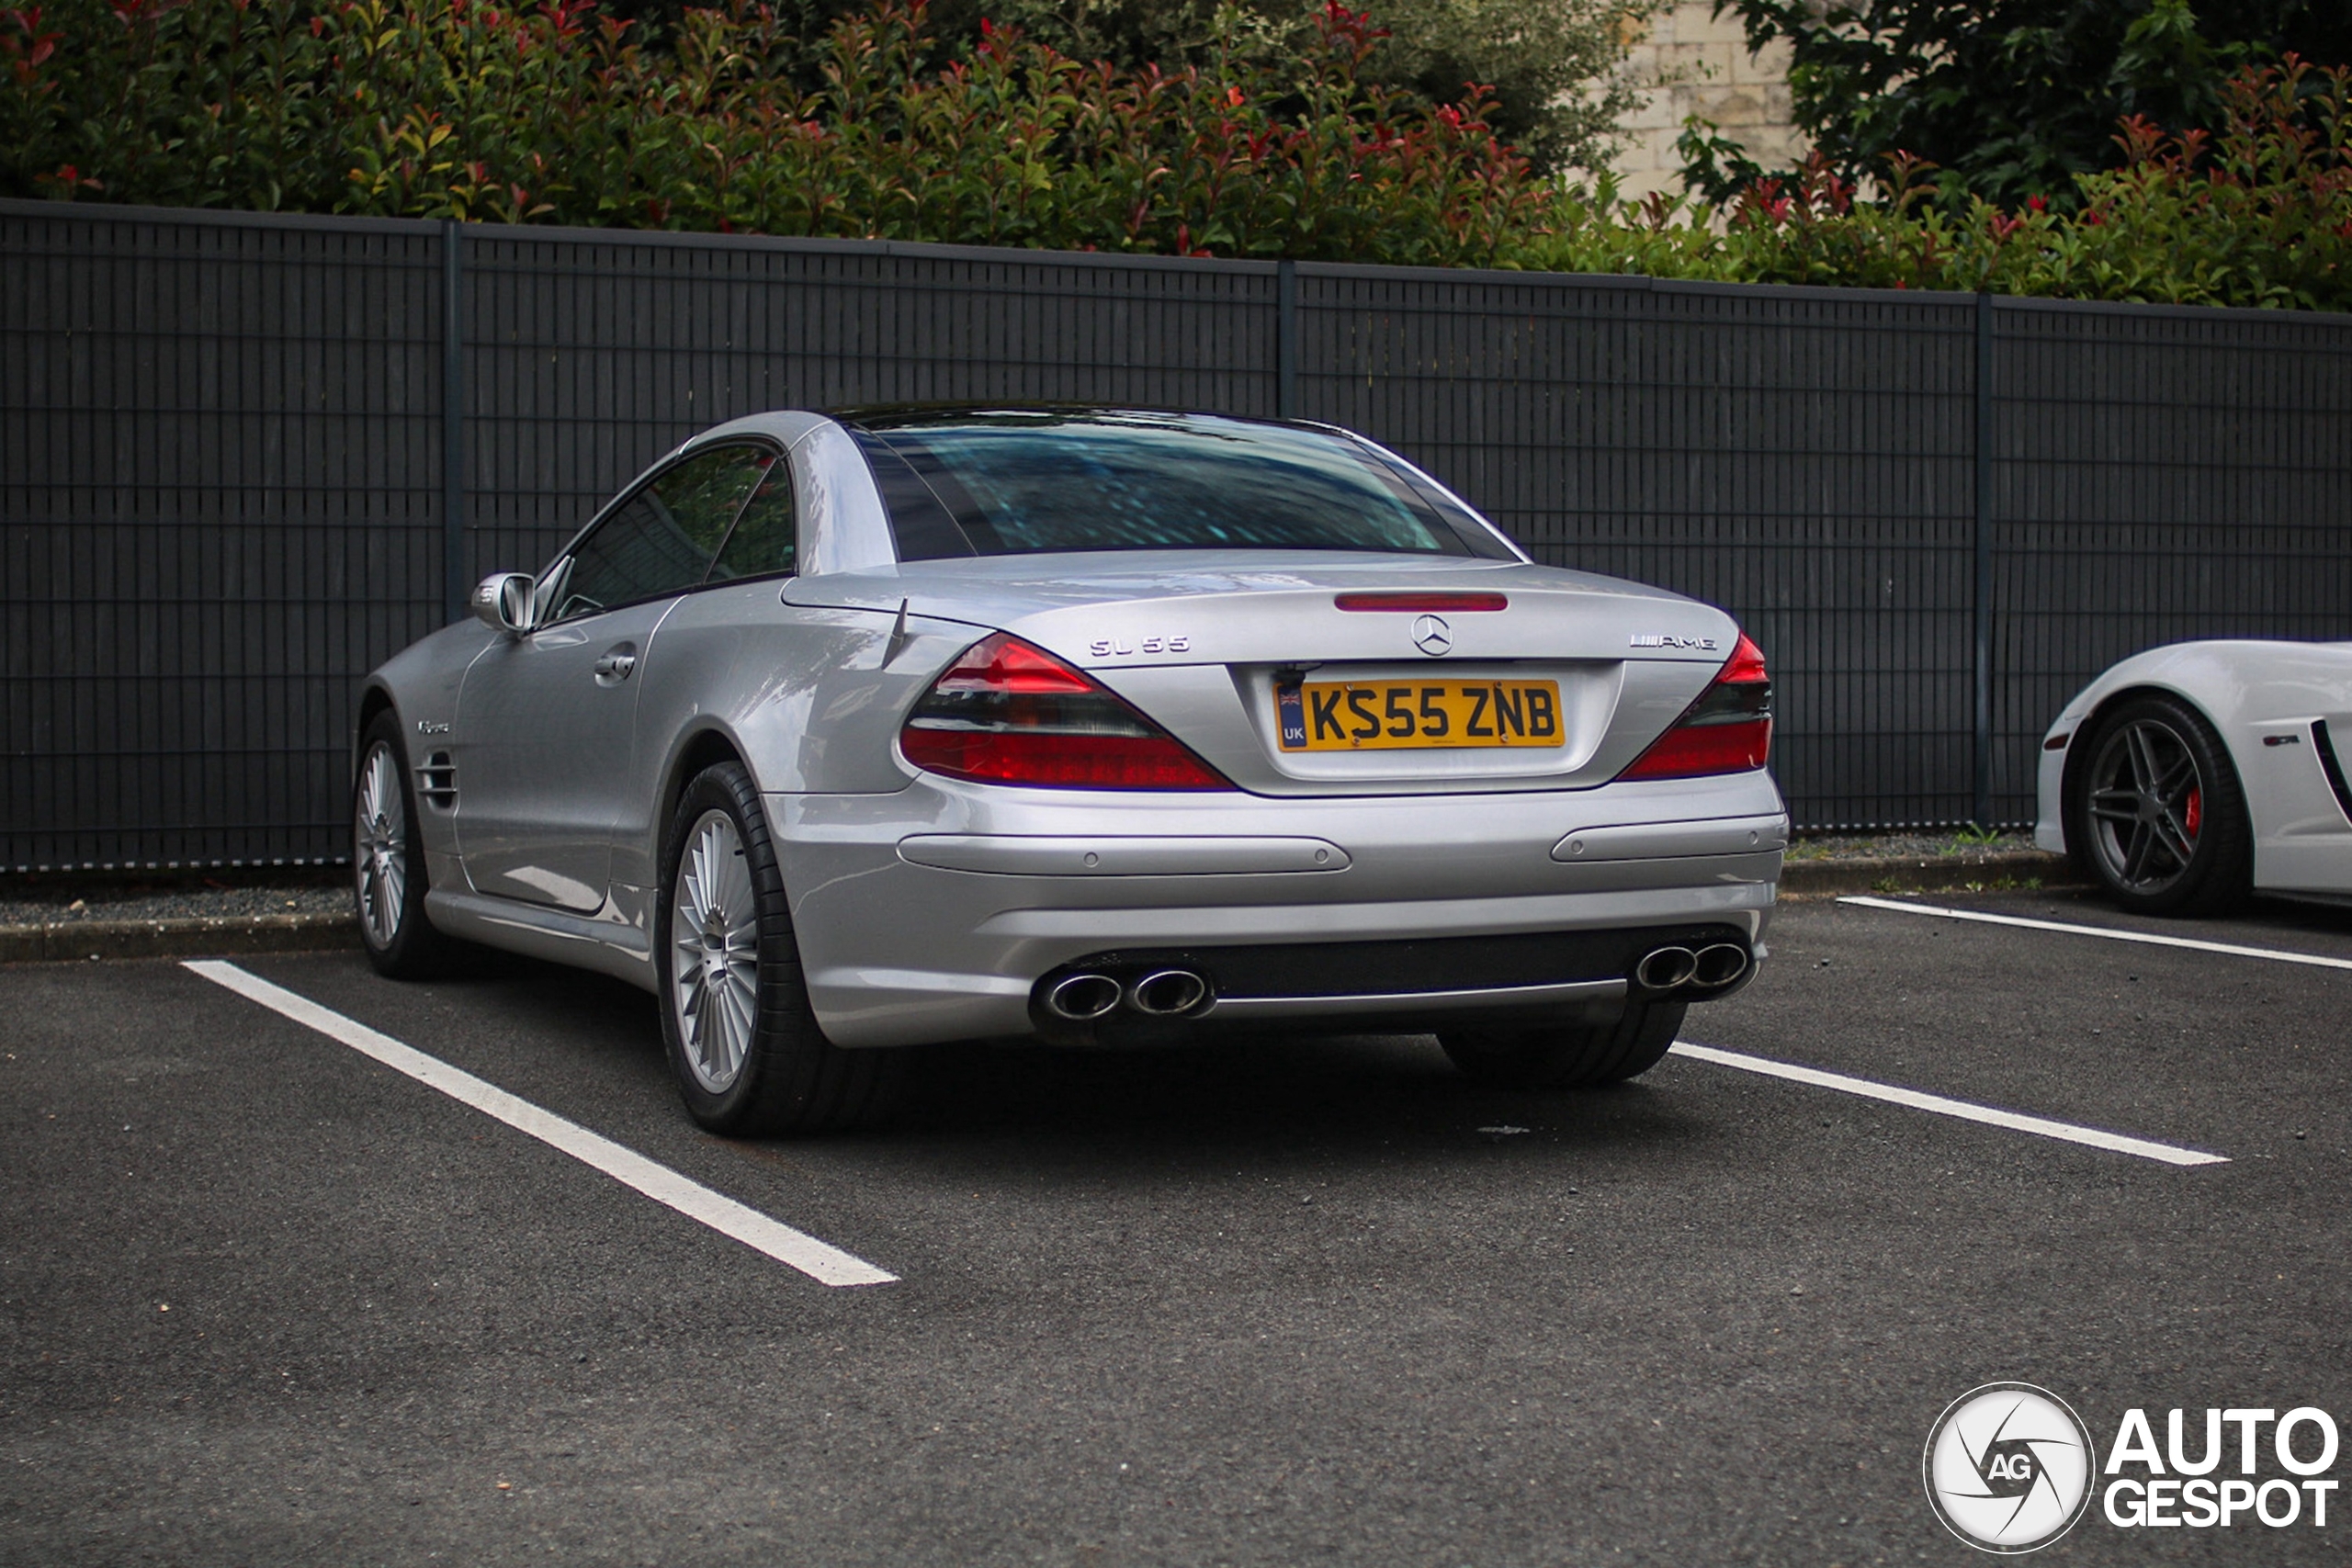
[(379, 1034), (365, 1023), (343, 1018), (341, 1013), (325, 1009), (308, 997), (299, 997), (282, 985), (270, 985), (261, 976), (252, 976), (235, 964), (223, 964), (219, 959), (191, 959), (183, 966), (205, 976), (214, 985), (226, 985), (240, 997), (259, 1001), (273, 1013), (313, 1027), (329, 1039), (339, 1039), (353, 1051), (376, 1058), (393, 1072), (405, 1072), (419, 1084), (437, 1088), (452, 1100), (475, 1107), (485, 1117), (496, 1117), (517, 1133), (529, 1133), (548, 1147), (562, 1150), (586, 1166), (595, 1166), (623, 1187), (635, 1187), (656, 1204), (668, 1204), (689, 1220), (701, 1220), (722, 1237), (734, 1237), (743, 1246), (767, 1253), (776, 1262), (795, 1267), (809, 1279), (828, 1286), (887, 1286), (898, 1279), (896, 1274), (884, 1274), (863, 1258), (851, 1258), (837, 1246), (828, 1246), (816, 1237), (767, 1218), (757, 1208), (748, 1208), (731, 1197), (687, 1180), (668, 1166), (656, 1166), (644, 1154), (626, 1150), (612, 1138), (590, 1133), (576, 1121), (564, 1121), (550, 1110), (539, 1110), (529, 1100), (510, 1095), (496, 1084), (485, 1084), (470, 1072), (426, 1056), (414, 1046), (405, 1046), (390, 1034)]

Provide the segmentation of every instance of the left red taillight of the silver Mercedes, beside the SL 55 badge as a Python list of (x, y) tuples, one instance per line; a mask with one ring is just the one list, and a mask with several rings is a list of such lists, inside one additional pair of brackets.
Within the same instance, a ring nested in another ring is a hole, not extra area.
[(1230, 790), (1082, 670), (993, 632), (964, 649), (915, 703), (898, 750), (917, 769), (1049, 790)]

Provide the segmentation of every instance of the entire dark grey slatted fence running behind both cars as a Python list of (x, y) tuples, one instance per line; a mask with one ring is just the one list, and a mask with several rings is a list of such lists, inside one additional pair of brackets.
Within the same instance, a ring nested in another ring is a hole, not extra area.
[(0, 202), (0, 867), (336, 860), (452, 585), (722, 418), (974, 397), (1343, 423), (1724, 604), (1809, 827), (2023, 820), (2114, 658), (2352, 637), (2352, 317)]

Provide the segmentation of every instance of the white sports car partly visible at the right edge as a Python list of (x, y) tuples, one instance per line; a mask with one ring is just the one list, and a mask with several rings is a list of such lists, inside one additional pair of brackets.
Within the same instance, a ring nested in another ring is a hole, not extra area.
[(2042, 741), (2034, 844), (2126, 910), (2345, 903), (2352, 642), (2176, 642), (2114, 665)]

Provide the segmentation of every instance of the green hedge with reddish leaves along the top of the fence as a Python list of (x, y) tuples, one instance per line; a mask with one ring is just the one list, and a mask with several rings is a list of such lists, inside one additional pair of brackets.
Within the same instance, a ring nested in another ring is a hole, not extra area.
[(2079, 209), (1884, 200), (1823, 165), (1724, 209), (1534, 174), (1482, 118), (1359, 75), (1381, 33), (1327, 5), (1289, 68), (1084, 63), (983, 31), (943, 71), (922, 5), (833, 26), (826, 85), (767, 7), (691, 9), (652, 47), (593, 0), (56, 0), (0, 12), (0, 190), (456, 216), (2352, 306), (2352, 87), (2246, 73), (2218, 134), (2126, 122)]

